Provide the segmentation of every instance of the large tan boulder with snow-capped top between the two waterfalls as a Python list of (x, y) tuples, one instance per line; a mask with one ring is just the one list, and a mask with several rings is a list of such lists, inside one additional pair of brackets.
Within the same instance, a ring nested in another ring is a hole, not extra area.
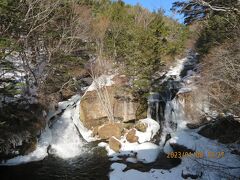
[(109, 113), (99, 99), (99, 90), (107, 97), (107, 109), (112, 112), (115, 120), (123, 122), (136, 120), (139, 103), (130, 93), (123, 90), (126, 85), (125, 76), (101, 76), (93, 82), (80, 103), (80, 120), (84, 126), (92, 129), (109, 121)]

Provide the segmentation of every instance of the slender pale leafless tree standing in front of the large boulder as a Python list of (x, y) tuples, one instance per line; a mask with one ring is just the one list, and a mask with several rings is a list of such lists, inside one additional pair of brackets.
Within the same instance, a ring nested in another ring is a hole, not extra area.
[(110, 122), (114, 122), (113, 102), (111, 100), (107, 81), (109, 72), (112, 70), (112, 62), (104, 56), (104, 38), (109, 27), (109, 19), (106, 16), (101, 16), (93, 21), (92, 24), (92, 39), (97, 45), (97, 56), (94, 62), (90, 64), (89, 74), (93, 79), (93, 84), (96, 88), (98, 99), (107, 114)]

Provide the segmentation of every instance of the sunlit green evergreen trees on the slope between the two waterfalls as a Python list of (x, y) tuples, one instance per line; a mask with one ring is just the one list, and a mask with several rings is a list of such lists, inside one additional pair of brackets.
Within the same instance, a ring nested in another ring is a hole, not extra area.
[(133, 80), (133, 91), (148, 92), (154, 73), (161, 70), (166, 57), (173, 59), (184, 48), (187, 28), (161, 11), (151, 13), (139, 5), (106, 1), (99, 7), (96, 17), (109, 19), (105, 55), (123, 66)]

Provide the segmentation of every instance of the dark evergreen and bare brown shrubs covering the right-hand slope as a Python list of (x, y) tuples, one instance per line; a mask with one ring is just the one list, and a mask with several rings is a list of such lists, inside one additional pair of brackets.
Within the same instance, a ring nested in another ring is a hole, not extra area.
[(240, 4), (237, 0), (175, 2), (195, 29), (200, 54), (200, 87), (207, 89), (211, 107), (219, 112), (240, 112)]

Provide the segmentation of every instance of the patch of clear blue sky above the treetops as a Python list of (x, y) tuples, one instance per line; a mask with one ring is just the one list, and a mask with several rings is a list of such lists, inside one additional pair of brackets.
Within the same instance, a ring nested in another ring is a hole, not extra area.
[(172, 7), (172, 3), (176, 0), (123, 0), (127, 4), (135, 5), (137, 3), (141, 4), (143, 7), (153, 11), (159, 8), (165, 10), (165, 14), (167, 16), (173, 17), (174, 19), (178, 19), (180, 22), (183, 22), (183, 18), (180, 15), (174, 15), (170, 8)]

